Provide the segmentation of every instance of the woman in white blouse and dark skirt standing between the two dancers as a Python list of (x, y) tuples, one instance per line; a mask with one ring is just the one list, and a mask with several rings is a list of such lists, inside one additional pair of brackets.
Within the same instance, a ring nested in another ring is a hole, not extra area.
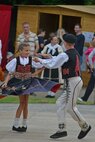
[[(44, 58), (48, 58), (50, 56), (57, 56), (58, 54), (62, 53), (62, 47), (58, 44), (58, 38), (56, 36), (53, 36), (51, 38), (51, 42), (47, 44), (44, 49), (42, 50), (42, 54)], [(61, 77), (60, 77), (60, 69), (44, 69), (43, 72), (43, 78), (60, 82)], [(54, 98), (55, 93), (52, 91), (48, 92), (48, 95), (46, 96), (47, 98)]]

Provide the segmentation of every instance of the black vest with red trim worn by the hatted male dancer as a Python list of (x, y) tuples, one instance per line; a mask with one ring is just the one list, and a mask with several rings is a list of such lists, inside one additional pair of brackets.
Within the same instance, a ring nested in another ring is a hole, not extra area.
[(79, 54), (76, 49), (69, 49), (65, 52), (69, 60), (62, 65), (62, 78), (71, 78), (75, 76), (80, 76), (80, 62)]

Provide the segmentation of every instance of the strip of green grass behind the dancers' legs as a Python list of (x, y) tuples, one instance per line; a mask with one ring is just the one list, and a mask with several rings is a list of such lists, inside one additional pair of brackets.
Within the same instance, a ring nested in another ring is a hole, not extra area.
[[(39, 96), (30, 96), (29, 97), (29, 103), (47, 103), (47, 104), (55, 104), (57, 98), (45, 98), (45, 97), (39, 97)], [(17, 96), (7, 96), (5, 98), (0, 99), (0, 103), (19, 103), (19, 97)], [(93, 105), (92, 102), (79, 102), (77, 101), (77, 104), (80, 105)]]

